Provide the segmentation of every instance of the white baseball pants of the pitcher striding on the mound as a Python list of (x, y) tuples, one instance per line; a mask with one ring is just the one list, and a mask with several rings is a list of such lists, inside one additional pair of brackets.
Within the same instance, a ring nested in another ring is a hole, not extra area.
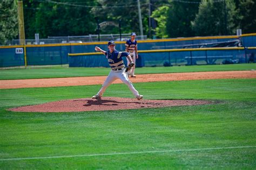
[(134, 96), (137, 96), (139, 94), (139, 92), (134, 88), (131, 81), (129, 80), (124, 68), (122, 70), (118, 70), (118, 71), (111, 70), (109, 73), (109, 76), (107, 76), (106, 80), (104, 81), (104, 84), (102, 85), (102, 88), (99, 90), (99, 92), (97, 94), (99, 96), (103, 96), (103, 93), (105, 92), (107, 87), (110, 84), (112, 84), (113, 81), (116, 79), (122, 80), (123, 83), (129, 87), (129, 89), (131, 90), (131, 92), (133, 93)]

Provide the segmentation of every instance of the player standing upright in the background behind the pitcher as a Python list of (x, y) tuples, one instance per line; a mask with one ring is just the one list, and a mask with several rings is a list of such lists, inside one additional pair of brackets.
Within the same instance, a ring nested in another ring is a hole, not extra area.
[[(131, 77), (136, 77), (134, 75), (135, 71), (135, 66), (136, 66), (136, 59), (138, 59), (138, 51), (137, 51), (137, 40), (136, 38), (136, 33), (132, 32), (131, 33), (131, 39), (127, 40), (125, 43), (125, 51), (129, 52), (131, 57), (132, 57), (132, 62), (134, 63), (134, 66), (132, 69), (128, 72), (128, 76), (130, 75)], [(129, 59), (127, 58), (127, 65), (130, 64)]]

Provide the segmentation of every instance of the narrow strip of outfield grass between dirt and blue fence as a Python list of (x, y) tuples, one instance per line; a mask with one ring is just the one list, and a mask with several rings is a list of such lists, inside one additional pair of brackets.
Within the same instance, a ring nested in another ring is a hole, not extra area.
[[(149, 73), (176, 73), (198, 71), (233, 71), (233, 70), (256, 70), (256, 63), (231, 64), (231, 65), (194, 65), (172, 67), (142, 67), (136, 69), (136, 74)], [(0, 70), (0, 80), (4, 79), (32, 79), (32, 78), (55, 78), (55, 77), (85, 77), (107, 76), (110, 69), (105, 67), (47, 67), (31, 69)]]

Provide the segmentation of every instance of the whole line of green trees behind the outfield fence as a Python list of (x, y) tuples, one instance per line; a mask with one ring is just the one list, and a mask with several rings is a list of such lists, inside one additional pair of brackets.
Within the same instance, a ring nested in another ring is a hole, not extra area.
[[(140, 0), (149, 38), (235, 35), (256, 32), (255, 0)], [(120, 22), (122, 32), (139, 35), (137, 0), (23, 0), (25, 37), (97, 33), (97, 21)], [(18, 39), (17, 0), (0, 2), (0, 43)], [(100, 33), (119, 33), (106, 26)]]

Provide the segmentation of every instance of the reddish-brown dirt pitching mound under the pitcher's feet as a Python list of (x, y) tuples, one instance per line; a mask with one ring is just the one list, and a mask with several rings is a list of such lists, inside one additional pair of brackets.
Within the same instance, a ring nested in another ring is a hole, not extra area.
[(131, 98), (103, 97), (102, 99), (74, 99), (10, 108), (14, 112), (82, 112), (124, 110), (132, 108), (156, 108), (211, 104), (207, 100), (137, 100)]

